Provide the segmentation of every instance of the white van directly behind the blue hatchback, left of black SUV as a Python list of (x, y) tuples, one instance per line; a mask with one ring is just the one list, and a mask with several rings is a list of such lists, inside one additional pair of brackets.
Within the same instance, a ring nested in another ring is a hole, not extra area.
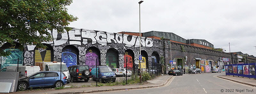
[[(60, 71), (60, 62), (56, 63), (44, 63), (43, 64), (43, 71)], [(70, 74), (68, 71), (68, 67), (65, 63), (61, 63), (61, 71), (67, 76), (68, 83), (70, 82)]]

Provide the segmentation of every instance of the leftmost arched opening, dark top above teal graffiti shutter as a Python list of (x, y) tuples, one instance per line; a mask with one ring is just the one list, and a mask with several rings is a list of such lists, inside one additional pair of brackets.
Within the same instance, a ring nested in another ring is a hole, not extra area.
[(5, 43), (0, 48), (4, 50), (4, 52), (11, 52), (11, 55), (3, 57), (1, 56), (1, 66), (0, 69), (6, 66), (17, 66), (18, 58), (19, 58), (19, 66), (23, 65), (23, 50), (18, 49), (20, 46), (19, 43), (15, 43), (15, 45), (11, 45), (10, 43)]

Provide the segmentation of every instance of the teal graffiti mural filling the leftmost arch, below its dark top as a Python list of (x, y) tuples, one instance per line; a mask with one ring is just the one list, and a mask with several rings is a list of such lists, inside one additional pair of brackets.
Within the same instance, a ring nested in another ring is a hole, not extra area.
[(18, 58), (19, 58), (19, 65), (23, 65), (23, 51), (19, 49), (5, 49), (5, 52), (11, 52), (11, 55), (3, 57), (1, 56), (1, 68), (6, 66), (17, 66)]

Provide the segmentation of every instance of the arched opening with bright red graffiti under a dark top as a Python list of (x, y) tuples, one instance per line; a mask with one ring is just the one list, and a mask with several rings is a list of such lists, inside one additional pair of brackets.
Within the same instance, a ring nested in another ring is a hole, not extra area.
[(124, 51), (124, 68), (134, 70), (134, 52), (131, 49), (127, 49)]

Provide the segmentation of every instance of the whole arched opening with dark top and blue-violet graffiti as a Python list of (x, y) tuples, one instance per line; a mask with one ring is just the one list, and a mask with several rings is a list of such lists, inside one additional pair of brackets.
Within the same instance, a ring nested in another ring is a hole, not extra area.
[(61, 62), (65, 63), (67, 67), (72, 65), (79, 65), (79, 51), (74, 45), (67, 45), (62, 49)]

